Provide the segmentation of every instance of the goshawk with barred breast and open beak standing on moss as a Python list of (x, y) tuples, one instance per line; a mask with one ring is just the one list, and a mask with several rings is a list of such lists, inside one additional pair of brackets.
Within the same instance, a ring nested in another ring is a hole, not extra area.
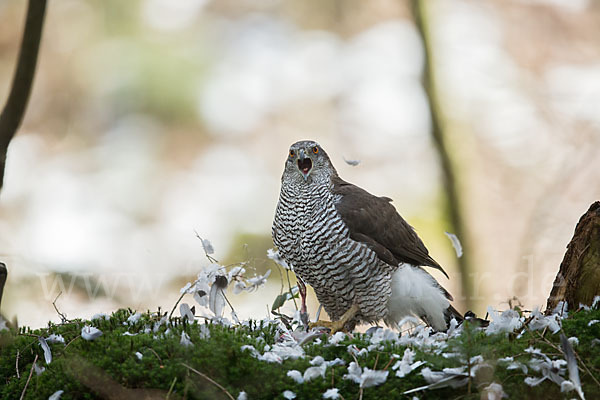
[(313, 287), (333, 330), (379, 320), (396, 326), (413, 315), (440, 331), (462, 319), (422, 266), (448, 275), (390, 202), (342, 180), (318, 143), (290, 147), (273, 241)]

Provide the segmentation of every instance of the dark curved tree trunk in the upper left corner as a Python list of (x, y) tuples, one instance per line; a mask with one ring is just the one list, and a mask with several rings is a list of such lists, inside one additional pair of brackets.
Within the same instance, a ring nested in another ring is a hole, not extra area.
[(8, 145), (23, 121), (25, 108), (29, 101), (45, 13), (46, 0), (29, 0), (17, 68), (13, 76), (8, 100), (2, 114), (0, 114), (0, 190), (4, 185)]

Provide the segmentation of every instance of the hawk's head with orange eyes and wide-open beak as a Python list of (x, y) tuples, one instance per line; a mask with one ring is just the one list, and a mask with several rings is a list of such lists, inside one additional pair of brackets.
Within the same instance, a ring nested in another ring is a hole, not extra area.
[(290, 146), (285, 163), (284, 177), (299, 182), (327, 180), (337, 174), (329, 156), (319, 143), (302, 140)]

